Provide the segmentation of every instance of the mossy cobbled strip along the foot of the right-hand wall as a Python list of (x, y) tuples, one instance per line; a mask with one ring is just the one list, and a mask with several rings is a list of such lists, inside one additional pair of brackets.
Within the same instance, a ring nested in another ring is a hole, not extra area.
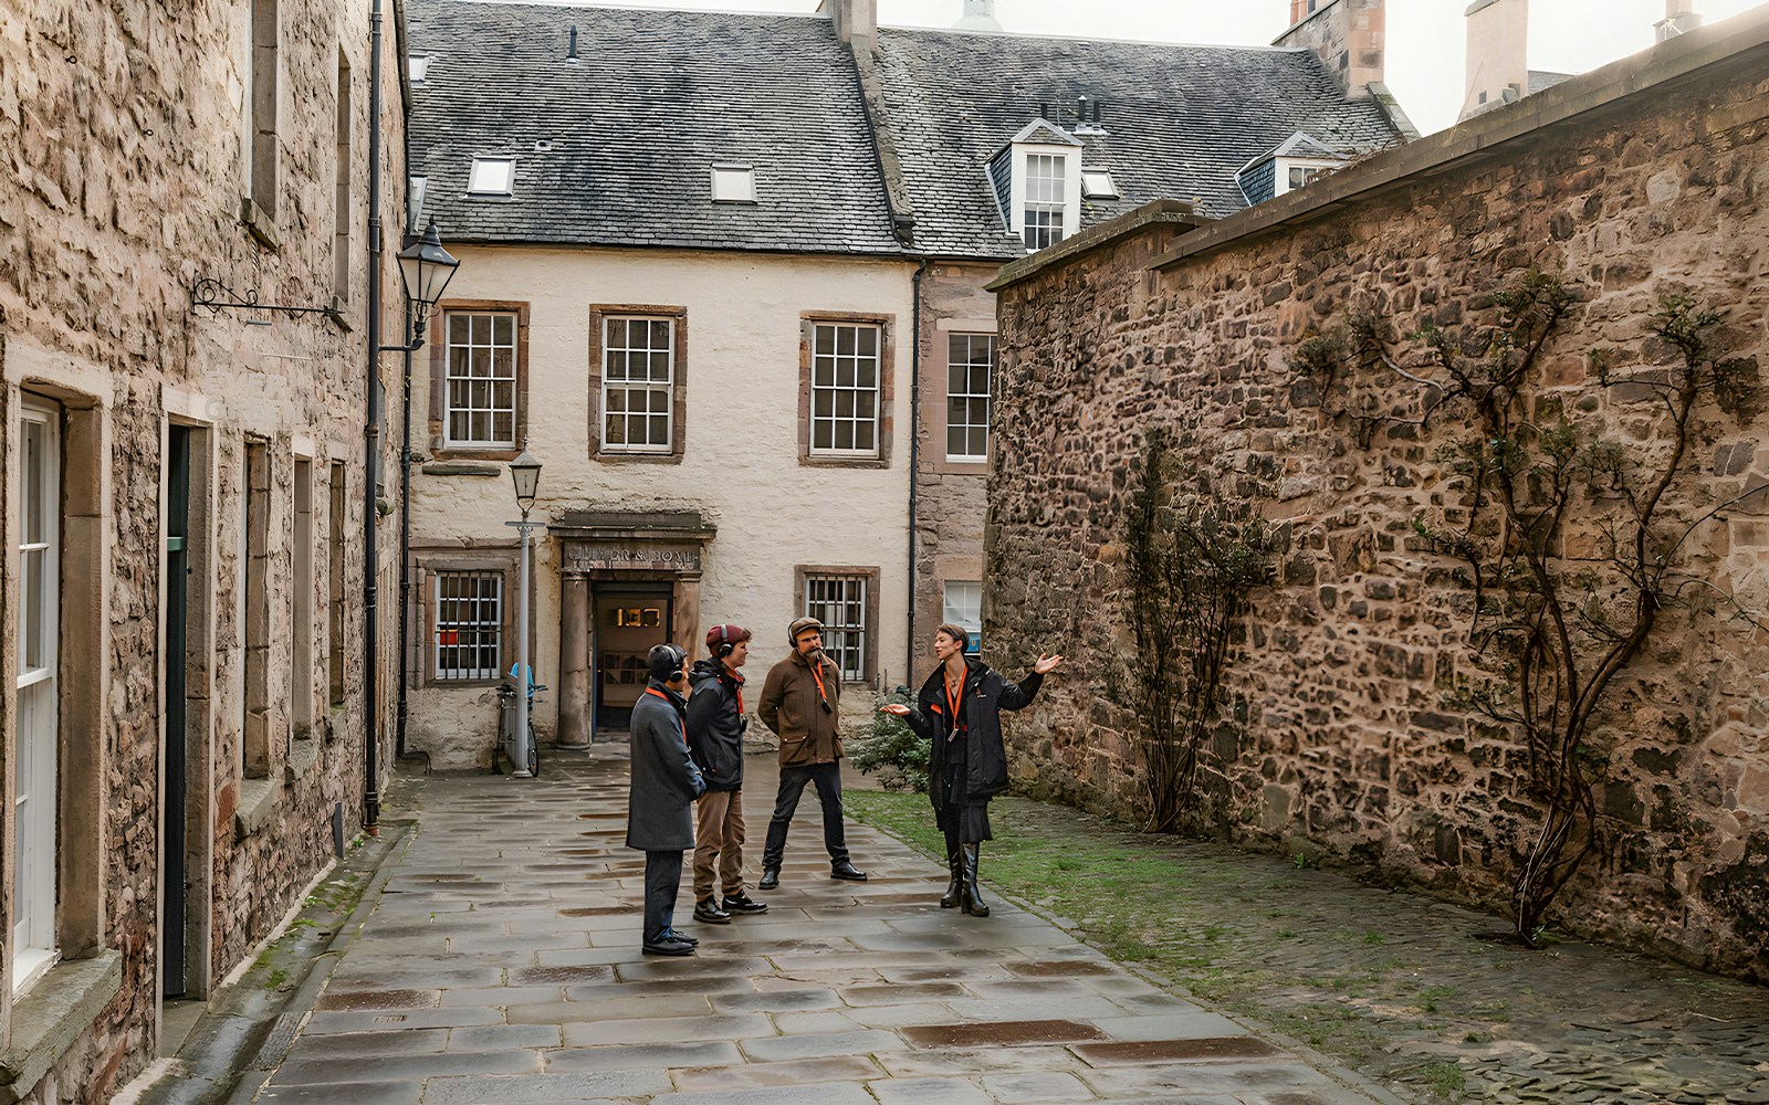
[[(895, 796), (867, 799), (892, 820)], [(906, 804), (906, 824), (925, 817), (925, 799)], [(1525, 949), (1502, 918), (1060, 806), (1010, 797), (992, 817), (1005, 840), (1116, 849), (1143, 882), (1183, 875), (1152, 905), (1157, 923), (1132, 918), (1137, 942), (1166, 953), (1143, 965), (1408, 1100), (1769, 1103), (1769, 988), (1564, 937)], [(1104, 930), (1106, 909), (1019, 889), (1070, 912), (1065, 928)]]

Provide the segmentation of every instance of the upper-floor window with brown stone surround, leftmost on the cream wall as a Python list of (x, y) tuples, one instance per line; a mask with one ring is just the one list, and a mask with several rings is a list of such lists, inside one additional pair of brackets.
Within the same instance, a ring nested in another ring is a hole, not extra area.
[(432, 449), (513, 460), (527, 417), (529, 304), (448, 301), (432, 327)]

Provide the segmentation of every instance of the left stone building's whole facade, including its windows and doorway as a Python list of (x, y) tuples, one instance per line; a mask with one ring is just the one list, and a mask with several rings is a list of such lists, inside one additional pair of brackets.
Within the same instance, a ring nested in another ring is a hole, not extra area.
[[(30, 0), (4, 25), (0, 1101), (90, 1103), (152, 1061), (163, 1001), (276, 930), (334, 824), (363, 826), (389, 705), (363, 697), (368, 320), (398, 339), (403, 51), (379, 0)], [(400, 180), (384, 304), (371, 127)]]

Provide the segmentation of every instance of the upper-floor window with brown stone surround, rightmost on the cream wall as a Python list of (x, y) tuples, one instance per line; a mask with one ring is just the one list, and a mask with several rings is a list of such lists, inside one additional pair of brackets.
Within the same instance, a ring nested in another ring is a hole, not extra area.
[(800, 463), (890, 467), (892, 357), (888, 315), (803, 315)]

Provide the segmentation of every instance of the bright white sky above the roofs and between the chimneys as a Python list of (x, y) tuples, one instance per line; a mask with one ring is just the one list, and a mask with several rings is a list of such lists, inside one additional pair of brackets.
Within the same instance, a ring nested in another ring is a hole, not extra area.
[[(582, 2), (582, 0), (527, 0)], [(1709, 23), (1769, 0), (1696, 0)], [(817, 0), (609, 0), (609, 7), (816, 11)], [(879, 21), (952, 27), (962, 0), (877, 0)], [(1463, 99), (1468, 0), (1389, 0), (1389, 90), (1421, 133), (1456, 122)], [(1534, 0), (1530, 69), (1585, 72), (1652, 46), (1665, 0)], [(1288, 0), (996, 0), (1003, 30), (1088, 39), (1267, 46), (1290, 23)]]

